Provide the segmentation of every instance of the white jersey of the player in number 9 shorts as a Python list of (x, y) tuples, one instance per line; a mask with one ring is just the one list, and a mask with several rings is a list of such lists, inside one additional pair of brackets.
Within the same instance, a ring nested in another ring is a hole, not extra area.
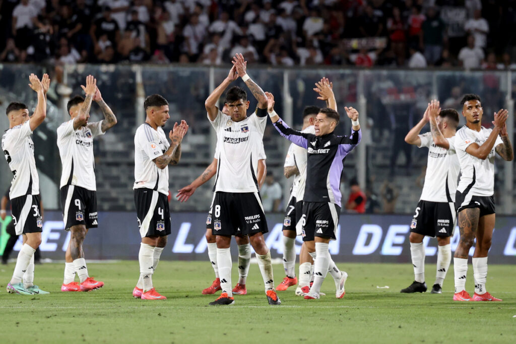
[(61, 156), (62, 172), (60, 188), (76, 185), (96, 191), (93, 139), (102, 132), (102, 121), (87, 123), (73, 128), (74, 120), (57, 128), (57, 147)]

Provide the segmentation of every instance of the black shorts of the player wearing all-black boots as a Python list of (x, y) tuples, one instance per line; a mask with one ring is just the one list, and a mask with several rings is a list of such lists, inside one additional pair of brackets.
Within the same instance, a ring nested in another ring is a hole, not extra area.
[(453, 235), (456, 219), (457, 213), (453, 202), (420, 200), (410, 222), (410, 232), (432, 238), (447, 238)]

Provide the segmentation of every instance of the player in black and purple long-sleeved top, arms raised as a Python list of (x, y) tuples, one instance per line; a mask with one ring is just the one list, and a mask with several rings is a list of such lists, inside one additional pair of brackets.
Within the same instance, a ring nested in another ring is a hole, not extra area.
[(305, 299), (319, 299), (319, 292), (326, 274), (331, 269), (339, 274), (335, 284), (335, 297), (345, 294), (344, 284), (347, 273), (338, 270), (328, 250), (330, 240), (335, 240), (335, 230), (341, 211), (340, 180), (343, 162), (353, 148), (360, 142), (362, 132), (358, 121), (358, 111), (345, 108), (351, 119), (351, 135), (333, 134), (339, 122), (338, 112), (330, 108), (319, 110), (315, 120), (315, 135), (291, 129), (274, 111), (274, 96), (266, 93), (268, 112), (278, 132), (287, 140), (307, 149), (307, 182), (303, 197), (302, 236), (308, 252), (315, 252), (314, 283)]

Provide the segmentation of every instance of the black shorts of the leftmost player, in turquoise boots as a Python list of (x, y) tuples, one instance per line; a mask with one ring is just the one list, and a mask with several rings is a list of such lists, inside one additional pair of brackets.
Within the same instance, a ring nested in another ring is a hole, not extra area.
[(42, 232), (43, 219), (39, 194), (11, 199), (11, 210), (16, 235)]

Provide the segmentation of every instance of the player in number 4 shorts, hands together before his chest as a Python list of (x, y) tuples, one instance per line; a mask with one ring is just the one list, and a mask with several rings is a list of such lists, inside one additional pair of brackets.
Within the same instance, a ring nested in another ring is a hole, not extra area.
[(138, 253), (140, 278), (133, 290), (135, 298), (142, 300), (165, 300), (152, 285), (156, 270), (170, 230), (168, 204), (168, 165), (177, 165), (181, 158), (181, 141), (188, 131), (188, 124), (174, 123), (169, 138), (162, 127), (167, 123), (169, 106), (167, 100), (153, 94), (143, 102), (147, 114), (145, 123), (136, 129), (134, 137), (134, 201), (141, 244)]

